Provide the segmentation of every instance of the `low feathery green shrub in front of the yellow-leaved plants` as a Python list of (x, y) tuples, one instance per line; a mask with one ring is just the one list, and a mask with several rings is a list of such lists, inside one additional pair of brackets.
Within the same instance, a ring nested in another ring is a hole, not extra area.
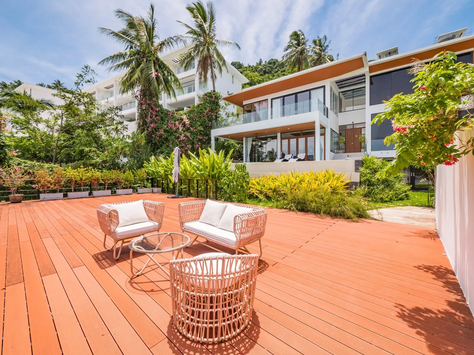
[(349, 192), (334, 193), (322, 186), (290, 190), (273, 205), (292, 211), (327, 214), (331, 217), (354, 221), (358, 218), (369, 218), (366, 212), (367, 202), (363, 197)]

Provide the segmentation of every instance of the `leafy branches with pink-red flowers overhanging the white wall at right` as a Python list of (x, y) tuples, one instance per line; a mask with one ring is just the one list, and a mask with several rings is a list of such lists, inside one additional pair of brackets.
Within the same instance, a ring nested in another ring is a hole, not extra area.
[(435, 168), (453, 165), (474, 152), (474, 140), (455, 144), (456, 132), (473, 128), (473, 116), (459, 117), (467, 102), (463, 95), (474, 92), (474, 65), (456, 62), (453, 52), (438, 53), (429, 63), (415, 62), (415, 92), (391, 98), (388, 110), (375, 116), (373, 124), (392, 120), (395, 131), (385, 144), (395, 143), (396, 159), (381, 172), (397, 175), (410, 163)]

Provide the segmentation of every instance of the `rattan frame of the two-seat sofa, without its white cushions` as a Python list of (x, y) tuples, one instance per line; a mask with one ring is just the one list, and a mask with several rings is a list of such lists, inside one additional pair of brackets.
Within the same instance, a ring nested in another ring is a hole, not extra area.
[[(221, 201), (216, 201), (219, 203), (225, 203)], [(183, 232), (191, 233), (196, 235), (196, 238), (191, 242), (188, 248), (196, 241), (198, 237), (202, 237), (206, 240), (212, 240), (213, 242), (234, 249), (236, 254), (239, 250), (250, 254), (250, 251), (246, 248), (246, 245), (251, 244), (258, 240), (260, 244), (260, 254), (262, 256), (262, 237), (265, 233), (265, 224), (267, 220), (267, 213), (263, 208), (253, 207), (243, 204), (236, 204), (237, 206), (250, 207), (253, 209), (252, 212), (237, 214), (234, 218), (234, 235), (236, 243), (231, 244), (224, 242), (222, 240), (215, 240), (210, 238), (207, 235), (199, 234), (195, 230), (187, 229), (187, 222), (199, 221), (201, 218), (202, 211), (206, 201), (191, 201), (191, 202), (182, 202), (178, 205), (179, 213), (179, 222)], [(216, 249), (217, 250), (217, 249)]]

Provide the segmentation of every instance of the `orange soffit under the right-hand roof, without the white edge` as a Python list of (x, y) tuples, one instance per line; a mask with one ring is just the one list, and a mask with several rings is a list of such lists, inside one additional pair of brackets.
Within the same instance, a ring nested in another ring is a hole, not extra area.
[(474, 47), (474, 38), (471, 38), (467, 41), (446, 44), (443, 46), (439, 46), (437, 48), (431, 48), (419, 53), (405, 55), (403, 57), (395, 58), (393, 60), (389, 60), (389, 61), (378, 63), (378, 64), (370, 65), (369, 63), (369, 72), (376, 73), (377, 71), (384, 71), (387, 69), (410, 65), (415, 59), (418, 59), (420, 61), (426, 61), (428, 59), (433, 58), (436, 54), (443, 51), (462, 52), (468, 49), (472, 49), (473, 47)]

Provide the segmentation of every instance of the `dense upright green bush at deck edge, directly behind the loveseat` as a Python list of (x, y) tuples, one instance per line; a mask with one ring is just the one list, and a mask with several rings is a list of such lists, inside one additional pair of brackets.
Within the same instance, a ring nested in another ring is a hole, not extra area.
[(245, 204), (248, 200), (250, 177), (245, 164), (236, 164), (234, 170), (226, 170), (219, 180), (219, 198), (224, 201)]

